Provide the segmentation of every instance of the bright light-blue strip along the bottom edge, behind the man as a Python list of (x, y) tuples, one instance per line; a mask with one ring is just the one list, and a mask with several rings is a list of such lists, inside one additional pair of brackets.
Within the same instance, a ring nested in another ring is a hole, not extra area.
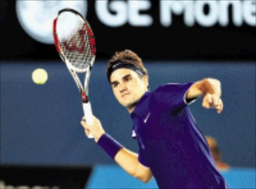
[[(255, 169), (232, 168), (221, 171), (229, 189), (255, 189)], [(111, 182), (109, 182), (111, 181)], [(97, 165), (94, 167), (86, 189), (157, 189), (154, 178), (147, 184), (130, 177), (118, 165)]]

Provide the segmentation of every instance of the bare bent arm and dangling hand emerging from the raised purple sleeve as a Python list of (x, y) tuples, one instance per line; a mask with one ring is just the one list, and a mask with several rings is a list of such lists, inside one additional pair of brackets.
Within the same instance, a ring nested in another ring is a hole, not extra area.
[(223, 110), (223, 103), (220, 99), (221, 96), (221, 84), (220, 81), (213, 78), (205, 78), (195, 82), (188, 89), (186, 93), (186, 101), (195, 99), (201, 95), (204, 95), (202, 100), (202, 107), (204, 108), (216, 108), (218, 113)]

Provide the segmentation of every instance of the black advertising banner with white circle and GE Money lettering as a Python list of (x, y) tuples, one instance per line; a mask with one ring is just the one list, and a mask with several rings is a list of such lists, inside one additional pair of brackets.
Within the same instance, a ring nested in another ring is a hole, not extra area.
[(255, 0), (1, 0), (1, 59), (59, 59), (57, 11), (89, 21), (96, 58), (131, 49), (144, 59), (254, 60)]

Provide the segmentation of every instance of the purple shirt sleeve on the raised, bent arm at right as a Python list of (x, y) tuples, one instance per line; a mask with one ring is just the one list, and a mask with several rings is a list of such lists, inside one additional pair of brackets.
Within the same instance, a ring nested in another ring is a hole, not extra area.
[(182, 109), (194, 100), (186, 102), (186, 93), (193, 82), (190, 83), (167, 83), (159, 86), (153, 92), (155, 100), (162, 107), (168, 109)]

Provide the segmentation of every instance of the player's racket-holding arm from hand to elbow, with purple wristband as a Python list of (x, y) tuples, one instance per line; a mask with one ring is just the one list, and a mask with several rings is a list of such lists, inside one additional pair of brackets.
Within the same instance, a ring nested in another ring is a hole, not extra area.
[[(105, 131), (103, 130), (100, 121), (97, 118), (95, 118), (94, 116), (93, 116), (93, 124), (92, 125), (87, 125), (83, 119), (80, 123), (84, 128), (85, 135), (88, 136), (88, 134), (91, 133), (94, 136), (94, 140), (97, 144), (98, 144), (98, 141), (100, 143), (102, 143), (102, 140), (100, 141), (100, 138), (103, 135), (105, 135), (105, 136), (103, 136), (102, 139), (106, 140), (106, 142), (109, 142), (109, 140), (111, 140), (110, 137), (106, 137)], [(109, 144), (111, 145), (111, 141)], [(100, 145), (100, 146), (102, 147), (104, 145), (105, 144)], [(112, 147), (116, 148), (116, 143), (113, 143)], [(111, 147), (109, 146), (109, 148), (111, 148)], [(108, 150), (108, 149), (104, 149), (104, 150)], [(116, 154), (111, 158), (113, 158), (115, 160), (115, 162), (126, 173), (128, 173), (132, 177), (135, 177), (136, 179), (139, 179), (142, 182), (147, 183), (153, 177), (150, 169), (139, 163), (138, 155), (136, 153), (133, 153), (133, 152), (125, 149), (125, 148), (121, 148), (120, 150), (118, 150), (118, 152), (116, 152)]]

